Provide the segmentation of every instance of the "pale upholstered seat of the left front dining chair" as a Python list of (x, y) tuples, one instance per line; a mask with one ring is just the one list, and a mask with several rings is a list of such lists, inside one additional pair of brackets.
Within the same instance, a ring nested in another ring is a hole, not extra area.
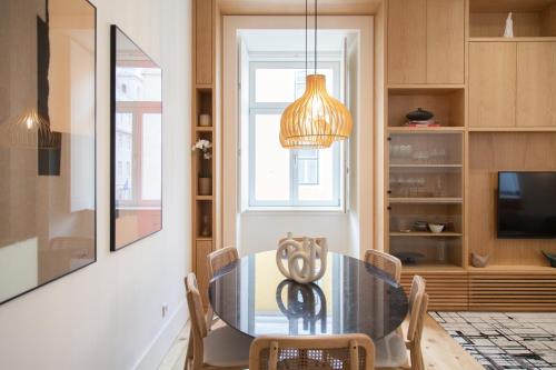
[(228, 326), (214, 329), (202, 340), (203, 362), (214, 367), (249, 367), (252, 338)]

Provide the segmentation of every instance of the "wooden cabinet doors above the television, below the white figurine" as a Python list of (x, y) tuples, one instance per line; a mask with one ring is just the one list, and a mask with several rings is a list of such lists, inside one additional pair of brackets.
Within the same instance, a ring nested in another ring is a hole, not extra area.
[(556, 42), (470, 42), (469, 126), (556, 127)]

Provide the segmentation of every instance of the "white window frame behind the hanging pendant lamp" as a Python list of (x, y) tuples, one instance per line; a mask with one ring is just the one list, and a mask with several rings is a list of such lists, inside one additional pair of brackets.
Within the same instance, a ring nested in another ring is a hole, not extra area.
[[(255, 197), (255, 117), (261, 114), (281, 114), (286, 107), (291, 102), (256, 102), (256, 80), (255, 72), (260, 68), (276, 68), (276, 69), (304, 69), (305, 62), (298, 60), (290, 61), (249, 61), (249, 209), (310, 209), (310, 208), (328, 208), (338, 209), (344, 208), (344, 181), (345, 181), (345, 163), (344, 163), (344, 142), (337, 142), (334, 146), (334, 184), (332, 192), (335, 194), (334, 199), (330, 201), (300, 201), (298, 194), (299, 181), (298, 181), (298, 150), (290, 150), (290, 198), (287, 201), (269, 201), (269, 200), (257, 200)], [(326, 68), (332, 70), (334, 76), (334, 91), (332, 96), (340, 97), (341, 91), (341, 73), (340, 61), (321, 61), (318, 63), (318, 68)], [(312, 69), (309, 68), (308, 73), (312, 73)], [(278, 140), (278, 138), (276, 138)]]

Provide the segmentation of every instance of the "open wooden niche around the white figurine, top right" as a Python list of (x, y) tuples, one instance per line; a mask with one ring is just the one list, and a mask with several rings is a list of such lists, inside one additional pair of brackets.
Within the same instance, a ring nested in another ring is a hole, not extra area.
[(556, 37), (556, 0), (471, 0), (469, 36), (502, 38), (513, 12), (514, 37)]

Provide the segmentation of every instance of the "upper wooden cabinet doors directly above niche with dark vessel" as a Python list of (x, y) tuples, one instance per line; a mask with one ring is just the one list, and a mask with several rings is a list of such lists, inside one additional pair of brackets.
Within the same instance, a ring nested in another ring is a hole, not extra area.
[(388, 1), (388, 83), (464, 83), (465, 1)]

